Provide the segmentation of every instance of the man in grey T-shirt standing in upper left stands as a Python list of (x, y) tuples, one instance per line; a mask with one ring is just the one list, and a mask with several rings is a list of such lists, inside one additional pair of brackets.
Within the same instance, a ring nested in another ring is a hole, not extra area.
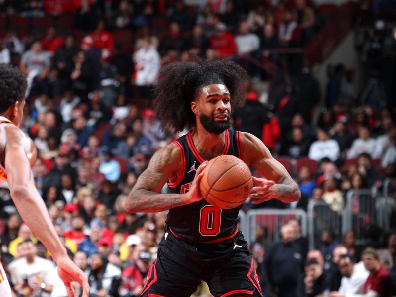
[(47, 74), (50, 70), (50, 59), (48, 53), (42, 50), (40, 40), (33, 41), (32, 49), (22, 55), (19, 68), (27, 75), (27, 97), (37, 93), (48, 94)]

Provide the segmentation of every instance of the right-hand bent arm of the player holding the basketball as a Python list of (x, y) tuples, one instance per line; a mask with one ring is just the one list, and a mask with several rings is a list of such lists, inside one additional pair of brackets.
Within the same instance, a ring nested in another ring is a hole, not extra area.
[(252, 203), (258, 204), (272, 198), (288, 203), (301, 197), (296, 182), (285, 167), (272, 157), (261, 140), (250, 133), (242, 133), (242, 147), (247, 164), (265, 177), (253, 177), (256, 186), (253, 187), (254, 193), (250, 194), (251, 198), (255, 198)]

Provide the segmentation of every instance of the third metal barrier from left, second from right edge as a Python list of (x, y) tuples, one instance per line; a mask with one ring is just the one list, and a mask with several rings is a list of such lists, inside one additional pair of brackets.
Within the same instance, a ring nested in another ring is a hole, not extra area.
[(370, 190), (349, 190), (343, 215), (343, 233), (353, 230), (356, 244), (364, 244), (367, 226), (381, 226), (381, 208)]

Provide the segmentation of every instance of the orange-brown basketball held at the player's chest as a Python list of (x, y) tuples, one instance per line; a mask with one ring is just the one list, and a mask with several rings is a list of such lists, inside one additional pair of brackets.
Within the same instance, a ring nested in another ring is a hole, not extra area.
[(232, 155), (211, 159), (199, 184), (203, 198), (213, 206), (230, 209), (244, 203), (253, 181), (249, 167)]

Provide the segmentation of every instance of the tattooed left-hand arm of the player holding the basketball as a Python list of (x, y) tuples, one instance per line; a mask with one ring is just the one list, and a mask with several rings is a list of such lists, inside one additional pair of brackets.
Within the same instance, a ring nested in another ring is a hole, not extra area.
[(180, 157), (180, 150), (174, 144), (161, 148), (152, 156), (147, 169), (139, 176), (128, 194), (125, 203), (127, 212), (161, 212), (202, 199), (199, 181), (207, 162), (198, 167), (193, 184), (187, 193), (160, 194), (163, 185), (179, 173)]

